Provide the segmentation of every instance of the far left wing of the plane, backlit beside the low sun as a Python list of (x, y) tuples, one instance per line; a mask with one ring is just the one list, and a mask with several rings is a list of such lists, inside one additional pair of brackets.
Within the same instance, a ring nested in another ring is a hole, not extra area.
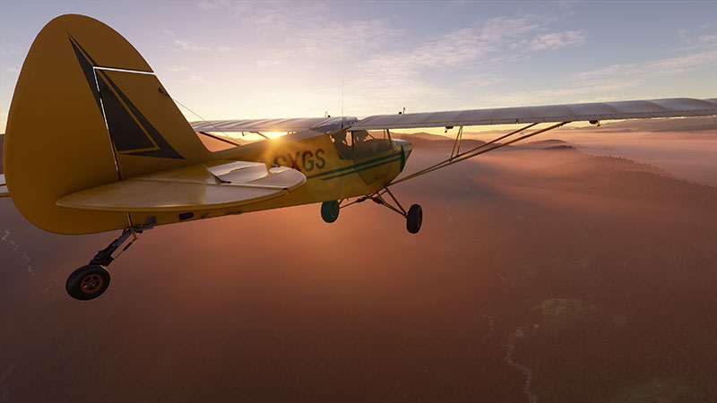
[(356, 123), (353, 116), (298, 117), (281, 119), (207, 120), (190, 122), (195, 132), (298, 132), (322, 129), (324, 132), (338, 130)]

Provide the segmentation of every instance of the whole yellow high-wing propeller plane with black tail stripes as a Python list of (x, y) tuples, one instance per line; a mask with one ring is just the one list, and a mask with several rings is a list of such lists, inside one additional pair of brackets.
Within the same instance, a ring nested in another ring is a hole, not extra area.
[[(324, 221), (333, 222), (340, 209), (370, 200), (402, 215), (415, 234), (422, 210), (404, 209), (389, 190), (394, 184), (570, 122), (712, 115), (717, 99), (655, 99), (190, 124), (121, 35), (89, 17), (63, 15), (39, 32), (22, 65), (0, 195), (50, 232), (122, 230), (66, 281), (70, 296), (89, 300), (107, 289), (113, 253), (151, 227), (315, 202), (322, 203)], [(462, 127), (481, 124), (525, 125), (461, 150)], [(396, 179), (411, 145), (392, 139), (390, 130), (423, 127), (459, 127), (454, 150), (441, 163)], [(215, 134), (227, 132), (288, 134), (236, 145)], [(230, 147), (210, 151), (199, 135)]]

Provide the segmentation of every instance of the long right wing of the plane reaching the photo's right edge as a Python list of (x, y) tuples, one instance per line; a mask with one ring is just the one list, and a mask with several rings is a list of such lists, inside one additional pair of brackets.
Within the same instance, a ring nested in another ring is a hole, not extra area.
[(418, 129), (717, 115), (717, 99), (652, 99), (368, 116), (350, 130)]

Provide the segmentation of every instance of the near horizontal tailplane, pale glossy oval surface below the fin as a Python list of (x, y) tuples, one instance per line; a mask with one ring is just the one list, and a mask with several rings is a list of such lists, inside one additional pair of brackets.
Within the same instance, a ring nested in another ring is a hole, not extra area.
[(57, 201), (68, 209), (116, 212), (170, 212), (234, 208), (267, 201), (307, 181), (289, 167), (263, 163), (213, 161), (135, 176), (69, 194)]

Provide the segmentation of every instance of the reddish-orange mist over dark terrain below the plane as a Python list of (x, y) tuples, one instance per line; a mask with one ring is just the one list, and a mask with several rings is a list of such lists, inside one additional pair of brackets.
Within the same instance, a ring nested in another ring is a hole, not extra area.
[[(396, 185), (418, 235), (369, 202), (154, 228), (92, 302), (65, 279), (117, 234), (0, 199), (0, 402), (714, 401), (717, 130), (610, 126)], [(406, 173), (453, 145), (402, 136)]]

